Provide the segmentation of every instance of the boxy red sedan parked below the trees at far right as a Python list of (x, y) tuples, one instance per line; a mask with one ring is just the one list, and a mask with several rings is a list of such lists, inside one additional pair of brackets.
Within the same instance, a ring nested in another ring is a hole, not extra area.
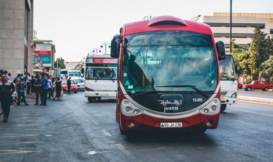
[(262, 90), (268, 91), (272, 89), (273, 85), (267, 84), (264, 80), (253, 80), (250, 84), (243, 85), (245, 91)]

